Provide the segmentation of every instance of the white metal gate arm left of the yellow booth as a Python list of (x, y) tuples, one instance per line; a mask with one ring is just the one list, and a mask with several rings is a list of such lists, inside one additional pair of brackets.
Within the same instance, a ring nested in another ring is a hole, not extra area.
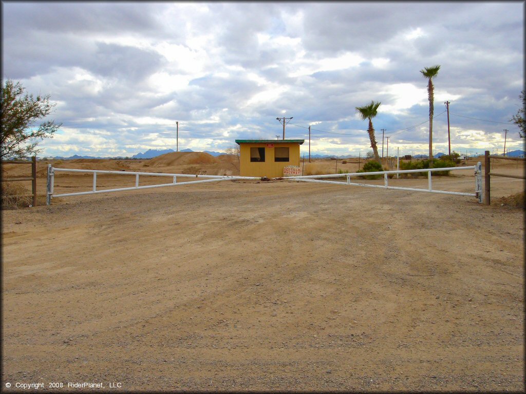
[[(82, 172), (82, 173), (93, 173), (93, 189), (87, 192), (75, 192), (75, 193), (63, 193), (63, 194), (54, 194), (54, 184), (55, 184), (55, 172)], [(119, 189), (104, 189), (97, 190), (97, 174), (117, 174), (117, 175), (135, 175), (135, 186), (129, 188), (119, 188)], [(139, 176), (148, 176), (148, 177), (171, 177), (173, 182), (163, 183), (157, 185), (146, 185), (139, 186)], [(210, 178), (200, 181), (187, 181), (177, 183), (177, 177), (180, 178)], [(53, 197), (67, 197), (72, 195), (84, 195), (84, 194), (96, 194), (96, 193), (111, 193), (111, 192), (122, 192), (126, 190), (138, 190), (138, 189), (152, 189), (152, 188), (163, 188), (166, 186), (179, 186), (179, 185), (188, 185), (193, 183), (205, 183), (205, 182), (218, 182), (218, 181), (227, 181), (227, 180), (240, 180), (240, 179), (261, 179), (258, 177), (230, 177), (227, 175), (192, 175), (192, 174), (169, 174), (169, 173), (158, 173), (158, 172), (132, 172), (132, 171), (106, 171), (106, 170), (78, 170), (78, 169), (69, 169), (69, 168), (54, 168), (51, 164), (47, 166), (47, 198), (46, 204), (51, 204), (51, 199)]]

